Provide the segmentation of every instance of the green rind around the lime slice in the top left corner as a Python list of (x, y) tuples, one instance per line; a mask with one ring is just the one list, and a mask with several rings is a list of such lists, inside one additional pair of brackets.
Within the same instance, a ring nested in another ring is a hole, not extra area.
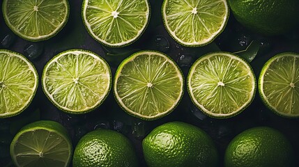
[[(68, 17), (70, 15), (70, 4), (68, 3), (68, 0), (62, 0), (62, 1), (66, 2), (66, 6), (67, 6), (67, 8), (66, 8), (67, 13), (66, 13), (65, 22), (63, 22), (63, 24), (61, 24), (61, 26), (58, 29), (56, 29), (56, 31), (54, 31), (54, 33), (52, 33), (52, 35), (46, 35), (43, 38), (30, 38), (26, 35), (23, 35), (22, 33), (19, 33), (18, 31), (15, 31), (15, 29), (12, 28), (13, 26), (10, 25), (10, 23), (8, 21), (8, 18), (6, 17), (6, 14), (5, 14), (6, 13), (5, 6), (6, 6), (7, 1), (9, 1), (9, 0), (3, 0), (3, 3), (2, 3), (2, 13), (3, 13), (4, 21), (6, 22), (6, 25), (9, 27), (9, 29), (11, 31), (13, 31), (13, 33), (17, 34), (20, 38), (22, 38), (24, 40), (29, 40), (31, 42), (38, 42), (38, 41), (48, 40), (49, 38), (52, 38), (55, 35), (57, 35), (57, 33), (59, 33), (63, 29), (63, 27), (66, 26), (66, 23), (68, 22)], [(24, 0), (24, 1), (26, 1), (26, 0)]]

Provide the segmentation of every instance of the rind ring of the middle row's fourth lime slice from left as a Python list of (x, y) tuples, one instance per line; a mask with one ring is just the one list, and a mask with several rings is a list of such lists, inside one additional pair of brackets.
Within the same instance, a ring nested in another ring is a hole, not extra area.
[[(232, 53), (227, 52), (227, 51), (215, 51), (215, 52), (210, 52), (210, 53), (208, 53), (208, 54), (205, 54), (205, 55), (199, 57), (199, 58), (197, 59), (197, 61), (195, 61), (195, 62), (193, 63), (193, 65), (197, 64), (197, 62), (200, 61), (201, 58), (204, 58), (204, 56), (208, 56), (208, 55), (210, 55), (210, 54), (231, 54), (232, 56), (236, 56), (236, 57), (240, 58), (241, 60), (243, 60), (244, 63), (247, 63), (247, 61), (246, 61), (244, 58), (242, 58), (242, 57), (240, 57), (240, 56), (238, 56), (238, 55), (236, 55), (236, 54), (232, 54)], [(192, 66), (193, 66), (193, 65), (192, 65)], [(250, 65), (249, 63), (247, 63), (247, 65), (250, 67), (250, 71), (252, 72), (252, 76), (254, 77), (254, 90), (253, 90), (252, 99), (250, 100), (250, 102), (248, 102), (247, 105), (244, 106), (242, 109), (240, 109), (238, 112), (235, 112), (235, 113), (230, 114), (230, 115), (227, 115), (227, 116), (213, 116), (213, 115), (210, 115), (209, 113), (206, 113), (204, 110), (202, 110), (201, 107), (198, 106), (197, 103), (196, 103), (196, 102), (193, 100), (193, 98), (191, 97), (191, 92), (190, 92), (191, 90), (190, 90), (190, 88), (189, 88), (189, 84), (190, 84), (189, 79), (190, 79), (190, 77), (191, 77), (190, 72), (191, 72), (191, 70), (192, 70), (192, 67), (190, 67), (190, 70), (189, 70), (189, 72), (188, 72), (188, 74), (187, 74), (187, 92), (188, 92), (188, 94), (189, 94), (189, 96), (190, 96), (190, 99), (191, 99), (192, 103), (193, 103), (195, 106), (197, 106), (197, 108), (200, 109), (204, 114), (206, 114), (206, 116), (209, 116), (209, 117), (211, 117), (211, 118), (226, 119), (226, 118), (231, 118), (231, 117), (233, 117), (233, 116), (237, 116), (239, 113), (242, 113), (242, 111), (244, 111), (244, 110), (247, 108), (247, 106), (250, 106), (250, 104), (251, 104), (252, 101), (254, 100), (255, 93), (256, 93), (256, 77), (255, 77), (255, 74), (254, 74), (254, 72), (253, 72), (253, 70), (252, 70), (251, 65)]]

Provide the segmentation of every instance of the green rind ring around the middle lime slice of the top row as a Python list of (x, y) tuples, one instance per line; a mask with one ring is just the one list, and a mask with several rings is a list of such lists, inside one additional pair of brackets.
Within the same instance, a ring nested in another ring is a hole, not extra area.
[(91, 35), (91, 37), (94, 40), (96, 40), (97, 42), (100, 42), (100, 44), (105, 45), (107, 47), (126, 47), (126, 46), (131, 45), (132, 43), (136, 42), (144, 34), (144, 32), (146, 31), (147, 26), (148, 26), (148, 24), (150, 22), (150, 19), (151, 19), (151, 5), (148, 2), (148, 0), (145, 0), (146, 3), (148, 4), (148, 22), (146, 22), (146, 25), (144, 26), (143, 31), (141, 31), (141, 33), (137, 36), (137, 38), (135, 38), (135, 40), (132, 40), (131, 42), (126, 43), (125, 45), (109, 45), (109, 44), (107, 44), (105, 42), (102, 42), (102, 41), (98, 40), (97, 38), (95, 38), (95, 36), (93, 36), (93, 34), (89, 31), (88, 27), (86, 26), (85, 21), (84, 21), (84, 14), (83, 14), (84, 13), (84, 8), (85, 8), (85, 3), (86, 3), (85, 1), (88, 1), (88, 0), (84, 0), (82, 2), (82, 12), (81, 12), (82, 22), (83, 22), (83, 24), (85, 26), (85, 29), (89, 33), (89, 35)]

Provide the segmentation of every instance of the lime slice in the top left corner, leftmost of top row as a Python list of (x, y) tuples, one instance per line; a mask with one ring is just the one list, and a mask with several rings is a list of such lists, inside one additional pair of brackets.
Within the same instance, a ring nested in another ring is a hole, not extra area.
[(30, 41), (52, 38), (70, 13), (67, 0), (3, 0), (2, 11), (11, 31)]

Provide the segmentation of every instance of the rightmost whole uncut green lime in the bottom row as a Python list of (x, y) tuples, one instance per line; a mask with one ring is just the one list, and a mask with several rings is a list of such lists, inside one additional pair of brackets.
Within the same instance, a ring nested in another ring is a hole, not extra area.
[(293, 162), (291, 143), (270, 127), (254, 127), (238, 134), (224, 156), (225, 167), (291, 167)]

